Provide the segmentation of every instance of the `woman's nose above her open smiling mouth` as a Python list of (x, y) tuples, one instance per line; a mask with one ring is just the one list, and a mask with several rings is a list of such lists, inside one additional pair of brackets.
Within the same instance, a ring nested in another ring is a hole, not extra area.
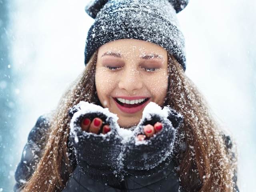
[(134, 90), (140, 90), (143, 87), (140, 72), (134, 68), (124, 69), (120, 76), (118, 87), (125, 89), (128, 93), (132, 93)]

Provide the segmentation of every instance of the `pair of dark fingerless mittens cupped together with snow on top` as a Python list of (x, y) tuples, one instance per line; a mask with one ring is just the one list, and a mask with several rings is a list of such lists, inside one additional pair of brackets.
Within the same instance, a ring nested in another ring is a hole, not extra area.
[[(123, 172), (152, 170), (171, 156), (176, 128), (183, 120), (182, 115), (169, 106), (162, 109), (154, 102), (144, 108), (142, 118), (133, 131), (120, 128), (117, 114), (96, 104), (81, 101), (69, 112), (72, 114), (70, 136), (81, 168), (90, 172), (87, 164), (101, 166), (103, 170), (112, 170), (120, 178), (123, 178)], [(109, 124), (110, 132), (95, 134), (82, 131), (82, 120), (95, 117)], [(144, 126), (156, 122), (163, 124), (162, 130), (139, 141), (137, 136), (144, 134)]]

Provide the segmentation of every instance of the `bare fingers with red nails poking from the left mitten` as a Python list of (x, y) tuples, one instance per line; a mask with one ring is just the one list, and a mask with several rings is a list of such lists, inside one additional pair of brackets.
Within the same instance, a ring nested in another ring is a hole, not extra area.
[[(102, 128), (103, 126), (103, 128)], [(108, 124), (102, 125), (102, 119), (96, 117), (92, 121), (89, 118), (84, 118), (81, 123), (81, 128), (83, 131), (98, 133), (102, 128), (102, 134), (106, 134), (110, 131), (110, 127)]]

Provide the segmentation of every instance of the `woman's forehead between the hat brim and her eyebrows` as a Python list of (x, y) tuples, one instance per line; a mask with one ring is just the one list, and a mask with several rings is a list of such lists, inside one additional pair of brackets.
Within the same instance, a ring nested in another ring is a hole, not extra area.
[(167, 51), (154, 43), (137, 39), (120, 39), (102, 45), (98, 50), (98, 55), (117, 54), (122, 58), (143, 57), (144, 55), (153, 57), (167, 57)]

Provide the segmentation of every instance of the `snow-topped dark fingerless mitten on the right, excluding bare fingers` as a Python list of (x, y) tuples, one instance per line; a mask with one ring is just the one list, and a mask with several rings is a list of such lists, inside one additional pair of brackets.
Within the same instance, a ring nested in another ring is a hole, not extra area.
[[(174, 122), (172, 123), (168, 118)], [(156, 166), (164, 166), (165, 160), (171, 156), (176, 128), (182, 119), (180, 114), (168, 106), (161, 109), (156, 103), (150, 102), (144, 108), (142, 119), (122, 150), (121, 155), (126, 172), (142, 173), (142, 170), (153, 170)], [(144, 134), (144, 126), (147, 124), (154, 126), (156, 122), (162, 123), (162, 130), (150, 138), (139, 141), (137, 136)]]

